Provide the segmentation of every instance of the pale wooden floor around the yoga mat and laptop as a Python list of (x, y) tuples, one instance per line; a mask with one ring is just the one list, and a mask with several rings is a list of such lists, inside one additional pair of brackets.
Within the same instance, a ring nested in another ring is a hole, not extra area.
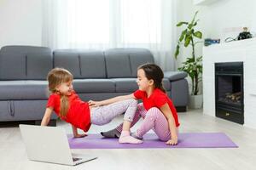
[[(201, 110), (179, 113), (183, 132), (223, 132), (239, 148), (233, 149), (139, 149), (139, 150), (73, 150), (75, 153), (91, 153), (98, 156), (95, 161), (75, 167), (28, 161), (18, 127), (0, 127), (0, 169), (1, 170), (40, 170), (40, 169), (119, 169), (119, 170), (254, 170), (256, 169), (256, 130), (233, 122), (206, 116)], [(121, 122), (118, 117), (104, 127), (92, 126), (89, 133), (108, 130)], [(71, 127), (64, 122), (57, 126)], [(133, 128), (134, 129), (134, 128)], [(54, 139), (53, 139), (54, 142)]]

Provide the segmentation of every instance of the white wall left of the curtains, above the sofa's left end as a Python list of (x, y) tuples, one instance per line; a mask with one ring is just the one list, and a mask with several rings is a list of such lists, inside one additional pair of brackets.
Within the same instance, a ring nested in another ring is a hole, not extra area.
[(0, 48), (42, 43), (41, 0), (0, 0)]

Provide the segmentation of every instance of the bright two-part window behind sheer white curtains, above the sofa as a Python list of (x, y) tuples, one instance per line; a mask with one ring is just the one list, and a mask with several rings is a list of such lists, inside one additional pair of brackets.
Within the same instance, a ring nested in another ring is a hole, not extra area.
[(160, 43), (160, 3), (160, 0), (68, 0), (67, 39), (72, 44)]

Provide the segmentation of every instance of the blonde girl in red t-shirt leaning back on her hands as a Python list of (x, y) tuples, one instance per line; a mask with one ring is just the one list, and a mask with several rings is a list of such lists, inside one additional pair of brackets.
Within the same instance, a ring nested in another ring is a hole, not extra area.
[(142, 140), (130, 135), (130, 127), (133, 117), (137, 111), (136, 99), (120, 100), (119, 97), (108, 99), (103, 105), (91, 105), (79, 99), (78, 94), (73, 90), (73, 75), (61, 68), (49, 71), (47, 80), (49, 82), (49, 95), (47, 108), (42, 126), (49, 123), (53, 111), (62, 120), (69, 122), (73, 127), (73, 135), (76, 138), (84, 137), (79, 134), (77, 128), (87, 132), (90, 124), (104, 125), (111, 122), (115, 116), (125, 112), (123, 130), (120, 131), (119, 143), (140, 144)]

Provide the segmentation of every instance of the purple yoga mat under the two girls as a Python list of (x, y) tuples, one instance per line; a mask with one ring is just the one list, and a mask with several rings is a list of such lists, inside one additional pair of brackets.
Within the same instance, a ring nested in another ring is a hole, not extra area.
[(71, 149), (139, 149), (139, 148), (237, 148), (224, 133), (179, 133), (177, 145), (166, 145), (154, 133), (143, 137), (143, 144), (119, 144), (118, 139), (106, 139), (101, 134), (89, 134), (74, 139), (68, 135)]

